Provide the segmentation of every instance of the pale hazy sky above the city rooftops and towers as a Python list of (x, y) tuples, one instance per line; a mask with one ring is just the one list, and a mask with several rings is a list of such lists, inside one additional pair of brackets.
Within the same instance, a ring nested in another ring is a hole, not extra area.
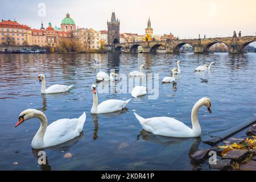
[[(39, 16), (39, 3), (46, 5), (46, 16)], [(60, 26), (67, 12), (79, 27), (106, 30), (112, 10), (120, 19), (121, 32), (144, 34), (148, 16), (154, 34), (172, 32), (179, 38), (232, 36), (256, 34), (255, 0), (36, 0), (2, 1), (0, 18), (14, 18), (32, 28), (44, 27), (48, 22)]]

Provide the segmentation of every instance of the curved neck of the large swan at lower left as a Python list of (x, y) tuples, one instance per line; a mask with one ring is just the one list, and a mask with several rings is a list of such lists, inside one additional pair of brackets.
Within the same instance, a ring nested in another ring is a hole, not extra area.
[(44, 134), (46, 133), (47, 128), (47, 118), (46, 115), (44, 115), (42, 112), (35, 113), (35, 118), (40, 119), (41, 123), (38, 132), (36, 132), (33, 140), (36, 141), (36, 143), (43, 144)]

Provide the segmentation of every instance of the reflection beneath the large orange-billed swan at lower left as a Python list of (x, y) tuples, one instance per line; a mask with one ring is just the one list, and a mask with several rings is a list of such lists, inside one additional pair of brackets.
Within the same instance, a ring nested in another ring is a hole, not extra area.
[[(40, 166), (42, 171), (51, 171), (51, 165), (49, 164), (49, 160), (47, 158), (47, 154), (49, 153), (49, 151), (59, 152), (60, 157), (63, 158), (63, 151), (64, 152), (70, 151), (71, 147), (74, 146), (77, 142), (79, 142), (79, 139), (82, 138), (83, 136), (84, 136), (84, 132), (82, 131), (78, 137), (68, 140), (67, 142), (60, 143), (56, 146), (40, 148), (40, 149), (31, 148), (32, 155), (34, 155), (35, 158), (39, 160), (39, 158), (42, 156), (42, 153), (40, 153), (40, 152), (42, 152), (42, 151), (46, 152), (45, 153), (46, 154), (46, 164), (41, 164), (41, 165), (38, 164), (38, 165)], [(38, 160), (36, 161), (36, 163), (38, 163)]]

